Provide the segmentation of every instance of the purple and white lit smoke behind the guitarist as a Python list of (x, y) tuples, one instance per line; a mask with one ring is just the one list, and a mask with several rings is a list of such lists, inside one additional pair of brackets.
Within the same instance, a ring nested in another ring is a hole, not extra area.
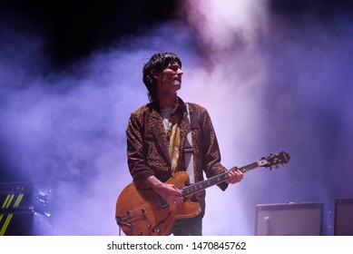
[(125, 128), (148, 103), (142, 66), (174, 52), (184, 72), (179, 95), (209, 110), (226, 167), (291, 156), (225, 192), (207, 190), (205, 235), (253, 235), (257, 204), (323, 201), (328, 214), (335, 199), (351, 198), (347, 15), (281, 15), (260, 0), (186, 1), (178, 13), (62, 69), (52, 68), (44, 34), (27, 20), (2, 25), (2, 181), (53, 190), (57, 235), (117, 235), (115, 201), (132, 181)]

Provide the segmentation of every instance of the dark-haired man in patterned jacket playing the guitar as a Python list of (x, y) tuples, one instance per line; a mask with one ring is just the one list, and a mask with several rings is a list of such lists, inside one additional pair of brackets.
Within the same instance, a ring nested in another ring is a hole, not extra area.
[[(203, 180), (227, 169), (221, 164), (221, 153), (207, 110), (195, 103), (184, 103), (177, 96), (181, 89), (181, 60), (176, 54), (153, 54), (144, 64), (143, 83), (150, 103), (132, 112), (128, 122), (127, 158), (133, 181), (147, 183), (168, 203), (182, 202), (182, 191), (165, 183), (177, 171), (188, 171), (191, 183)], [(190, 115), (188, 115), (190, 112)], [(193, 160), (186, 161), (187, 136), (191, 132)], [(188, 165), (186, 165), (188, 164)], [(219, 184), (226, 190), (228, 183), (236, 183), (243, 175), (236, 166), (229, 171), (229, 180)], [(202, 235), (205, 212), (205, 190), (191, 197), (199, 202), (201, 212), (191, 219), (178, 220), (173, 235)]]

